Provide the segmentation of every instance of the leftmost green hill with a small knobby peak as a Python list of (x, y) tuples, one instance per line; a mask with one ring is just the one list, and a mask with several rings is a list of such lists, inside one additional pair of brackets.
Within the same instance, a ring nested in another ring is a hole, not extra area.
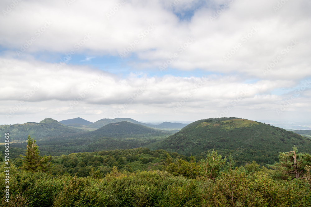
[[(4, 133), (10, 133), (10, 140), (24, 141), (28, 135), (36, 140), (45, 137), (62, 136), (63, 134), (79, 133), (81, 129), (68, 127), (54, 119), (44, 119), (40, 123), (27, 122), (25, 124), (1, 125), (0, 138), (4, 138)], [(3, 140), (3, 139), (2, 139)]]

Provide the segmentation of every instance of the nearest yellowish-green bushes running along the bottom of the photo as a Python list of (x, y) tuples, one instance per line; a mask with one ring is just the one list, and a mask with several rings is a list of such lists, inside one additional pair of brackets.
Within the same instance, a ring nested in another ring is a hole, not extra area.
[[(3, 170), (3, 166), (0, 169)], [(121, 173), (116, 167), (102, 179), (53, 178), (46, 173), (12, 169), (10, 191), (23, 199), (20, 201), (23, 205), (19, 206), (311, 205), (307, 182), (303, 179), (274, 180), (271, 170), (267, 169), (248, 173), (243, 167), (236, 168), (220, 173), (213, 181), (188, 179), (159, 170)], [(4, 173), (0, 177), (4, 178)], [(3, 183), (0, 183), (0, 190), (4, 190)]]

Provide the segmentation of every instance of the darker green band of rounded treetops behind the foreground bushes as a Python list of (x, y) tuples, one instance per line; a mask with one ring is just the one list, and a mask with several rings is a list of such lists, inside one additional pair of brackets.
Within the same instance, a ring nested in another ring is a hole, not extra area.
[[(117, 167), (121, 172), (137, 170), (165, 169), (173, 159), (190, 160), (177, 153), (164, 150), (150, 151), (148, 148), (113, 150), (101, 152), (72, 153), (54, 156), (53, 175), (69, 174), (77, 177), (102, 178)], [(170, 160), (169, 163), (167, 160)], [(168, 164), (167, 164), (168, 163)]]

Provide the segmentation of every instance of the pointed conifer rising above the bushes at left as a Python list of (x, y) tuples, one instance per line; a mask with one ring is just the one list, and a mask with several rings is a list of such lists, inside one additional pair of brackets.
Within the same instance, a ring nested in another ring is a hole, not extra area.
[(49, 162), (52, 159), (52, 156), (44, 155), (43, 157), (41, 157), (39, 153), (39, 146), (37, 146), (36, 141), (28, 136), (25, 156), (21, 155), (21, 157), (24, 158), (21, 168), (33, 172), (47, 172), (52, 165)]

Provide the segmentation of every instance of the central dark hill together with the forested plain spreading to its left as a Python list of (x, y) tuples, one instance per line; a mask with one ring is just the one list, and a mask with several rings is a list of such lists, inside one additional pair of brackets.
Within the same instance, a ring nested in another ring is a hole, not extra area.
[[(95, 131), (39, 140), (37, 144), (40, 146), (40, 151), (45, 154), (61, 155), (85, 151), (132, 149), (150, 145), (171, 134), (173, 133), (123, 121), (107, 124)], [(12, 147), (25, 147), (25, 145), (16, 143)]]

